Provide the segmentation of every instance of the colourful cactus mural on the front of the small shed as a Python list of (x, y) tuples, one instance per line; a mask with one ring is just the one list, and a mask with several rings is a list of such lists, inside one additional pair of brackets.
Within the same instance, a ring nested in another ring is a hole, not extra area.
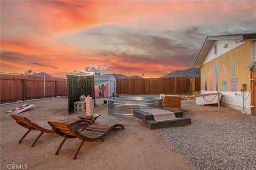
[(95, 97), (109, 97), (108, 81), (94, 81)]

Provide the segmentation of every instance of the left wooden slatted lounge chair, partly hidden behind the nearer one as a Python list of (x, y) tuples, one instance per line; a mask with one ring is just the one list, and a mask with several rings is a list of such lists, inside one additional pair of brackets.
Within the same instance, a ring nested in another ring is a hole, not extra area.
[[(11, 115), (12, 118), (14, 118), (14, 120), (21, 126), (23, 126), (24, 128), (27, 128), (28, 131), (23, 135), (23, 137), (19, 140), (19, 143), (21, 143), (23, 140), (27, 141), (29, 143), (31, 143), (31, 141), (25, 140), (25, 137), (28, 135), (28, 133), (32, 130), (36, 130), (36, 131), (40, 131), (41, 133), (39, 133), (39, 135), (37, 136), (37, 138), (34, 140), (34, 142), (32, 143), (31, 147), (35, 146), (36, 142), (38, 141), (38, 139), (41, 137), (41, 135), (43, 133), (54, 133), (52, 131), (52, 127), (50, 125), (47, 126), (39, 126), (36, 123), (31, 122), (30, 120), (28, 120), (28, 118), (23, 117), (23, 116), (18, 116), (18, 115)], [(66, 122), (69, 123), (70, 125), (74, 125), (76, 123), (81, 122), (81, 120), (77, 119), (77, 118), (62, 118), (61, 120), (59, 120), (61, 122)]]

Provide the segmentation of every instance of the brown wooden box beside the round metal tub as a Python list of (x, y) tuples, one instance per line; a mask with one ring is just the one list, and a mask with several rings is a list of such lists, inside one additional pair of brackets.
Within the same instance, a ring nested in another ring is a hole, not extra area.
[(180, 111), (181, 110), (180, 100), (181, 100), (181, 98), (178, 95), (165, 95), (164, 108)]

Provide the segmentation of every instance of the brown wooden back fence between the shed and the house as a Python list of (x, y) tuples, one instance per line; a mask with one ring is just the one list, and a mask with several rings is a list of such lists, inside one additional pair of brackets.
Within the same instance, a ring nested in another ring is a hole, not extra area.
[(188, 77), (117, 79), (117, 94), (187, 94), (188, 92)]

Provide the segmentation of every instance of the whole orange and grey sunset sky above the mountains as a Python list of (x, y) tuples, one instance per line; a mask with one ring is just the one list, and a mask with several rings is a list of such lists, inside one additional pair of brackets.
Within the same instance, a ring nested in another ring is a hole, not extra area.
[(256, 32), (255, 1), (1, 1), (1, 72), (162, 77), (207, 35)]

